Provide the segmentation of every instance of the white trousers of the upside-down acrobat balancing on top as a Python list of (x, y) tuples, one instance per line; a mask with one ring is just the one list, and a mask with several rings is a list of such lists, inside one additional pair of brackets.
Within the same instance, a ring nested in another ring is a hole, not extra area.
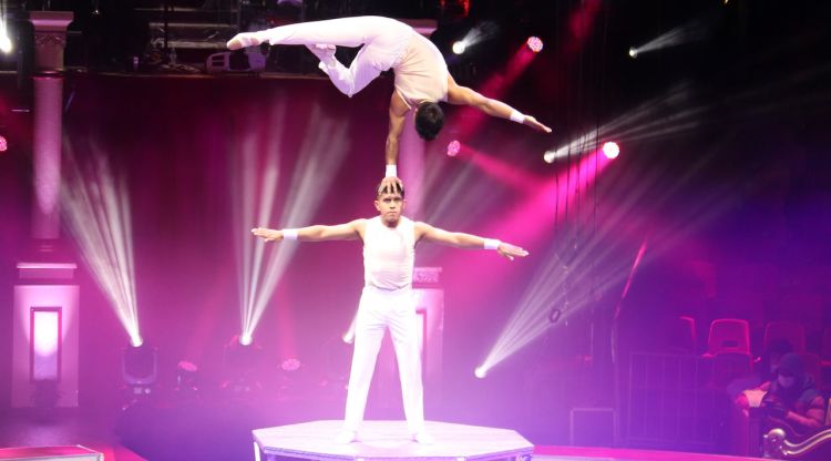
[[(351, 96), (361, 91), (382, 71), (394, 66), (404, 55), (414, 31), (409, 25), (389, 18), (363, 16), (299, 22), (254, 32), (270, 44), (305, 44), (321, 59), (320, 69), (329, 75), (341, 93)], [(360, 47), (349, 69), (335, 59), (315, 50), (317, 44)]]

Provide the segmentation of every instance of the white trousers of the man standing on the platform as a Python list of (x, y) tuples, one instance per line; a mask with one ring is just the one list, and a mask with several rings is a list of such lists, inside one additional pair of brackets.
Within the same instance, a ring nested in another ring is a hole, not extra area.
[(363, 420), (369, 385), (388, 327), (396, 348), (407, 427), (410, 433), (423, 430), (424, 397), (417, 321), (416, 298), (411, 289), (384, 291), (373, 287), (363, 288), (355, 324), (355, 351), (343, 423), (346, 430), (357, 431)]

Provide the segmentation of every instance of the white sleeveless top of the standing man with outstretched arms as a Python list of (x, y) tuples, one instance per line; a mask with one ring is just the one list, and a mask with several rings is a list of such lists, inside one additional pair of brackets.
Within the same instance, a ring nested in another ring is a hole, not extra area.
[(381, 217), (367, 221), (363, 233), (363, 283), (380, 289), (412, 285), (416, 264), (416, 225), (401, 216), (398, 226), (387, 227)]

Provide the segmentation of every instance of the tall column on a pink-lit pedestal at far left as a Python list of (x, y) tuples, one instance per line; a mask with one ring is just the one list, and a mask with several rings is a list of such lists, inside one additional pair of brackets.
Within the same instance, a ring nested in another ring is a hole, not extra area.
[(32, 260), (19, 262), (12, 314), (12, 407), (78, 406), (79, 286), (61, 236), (63, 49), (72, 13), (32, 11), (34, 104)]

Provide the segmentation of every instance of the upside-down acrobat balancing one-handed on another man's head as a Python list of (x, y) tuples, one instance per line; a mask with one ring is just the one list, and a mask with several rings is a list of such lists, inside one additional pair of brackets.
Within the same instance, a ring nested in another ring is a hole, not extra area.
[[(390, 100), (387, 134), (384, 185), (399, 183), (398, 145), (408, 111), (414, 110), (416, 130), (424, 140), (433, 140), (444, 124), (439, 101), (474, 106), (488, 115), (509, 119), (551, 133), (551, 129), (510, 105), (455, 83), (438, 48), (410, 25), (383, 17), (353, 17), (280, 25), (257, 32), (243, 32), (227, 43), (230, 50), (270, 44), (302, 44), (318, 59), (340, 92), (348, 96), (361, 91), (381, 72), (396, 74)], [(360, 47), (349, 69), (336, 58), (336, 47)]]

